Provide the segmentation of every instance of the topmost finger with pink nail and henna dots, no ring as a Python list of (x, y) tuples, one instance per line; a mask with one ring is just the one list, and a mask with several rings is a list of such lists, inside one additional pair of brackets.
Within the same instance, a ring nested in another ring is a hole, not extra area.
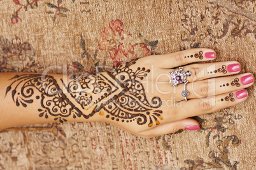
[(150, 56), (152, 62), (162, 69), (171, 69), (181, 65), (187, 65), (193, 62), (203, 62), (215, 59), (216, 53), (213, 49), (194, 48), (171, 53), (167, 55), (159, 55), (159, 57)]

